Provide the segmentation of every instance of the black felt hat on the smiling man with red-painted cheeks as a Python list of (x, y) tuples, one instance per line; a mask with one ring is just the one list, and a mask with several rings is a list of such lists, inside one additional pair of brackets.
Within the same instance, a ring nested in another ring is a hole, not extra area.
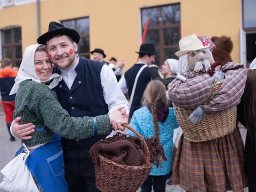
[(80, 35), (77, 33), (76, 30), (66, 28), (66, 26), (57, 22), (50, 22), (48, 31), (45, 34), (42, 34), (37, 41), (39, 44), (46, 45), (47, 40), (57, 35), (70, 36), (70, 38), (73, 39), (73, 41), (77, 44), (80, 40)]

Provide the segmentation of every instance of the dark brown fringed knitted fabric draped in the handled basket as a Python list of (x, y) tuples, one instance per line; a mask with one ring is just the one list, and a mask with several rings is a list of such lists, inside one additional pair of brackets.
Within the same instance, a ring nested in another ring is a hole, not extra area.
[[(146, 143), (150, 154), (152, 154), (150, 156), (152, 163), (159, 165), (159, 161), (166, 159), (163, 147), (155, 137), (147, 139)], [(145, 162), (145, 150), (142, 142), (137, 137), (120, 133), (95, 143), (89, 153), (93, 163), (98, 163), (99, 154), (126, 166), (142, 166)]]

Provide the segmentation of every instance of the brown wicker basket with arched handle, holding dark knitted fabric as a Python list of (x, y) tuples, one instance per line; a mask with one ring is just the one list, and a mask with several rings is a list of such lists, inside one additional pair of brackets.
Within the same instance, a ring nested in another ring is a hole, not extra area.
[(150, 174), (150, 152), (144, 138), (131, 126), (125, 127), (140, 138), (145, 146), (145, 164), (143, 166), (125, 166), (110, 161), (99, 154), (99, 164), (95, 164), (96, 186), (103, 192), (134, 192), (145, 182)]

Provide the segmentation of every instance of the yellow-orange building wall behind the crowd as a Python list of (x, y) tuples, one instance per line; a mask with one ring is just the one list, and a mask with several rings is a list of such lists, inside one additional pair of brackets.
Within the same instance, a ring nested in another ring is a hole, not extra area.
[[(107, 57), (126, 62), (125, 69), (137, 59), (141, 42), (140, 8), (180, 3), (181, 36), (190, 34), (231, 37), (233, 61), (239, 62), (240, 0), (44, 0), (40, 1), (41, 34), (49, 22), (89, 17), (90, 50), (102, 48)], [(0, 29), (22, 26), (24, 48), (37, 38), (36, 3), (0, 9)]]

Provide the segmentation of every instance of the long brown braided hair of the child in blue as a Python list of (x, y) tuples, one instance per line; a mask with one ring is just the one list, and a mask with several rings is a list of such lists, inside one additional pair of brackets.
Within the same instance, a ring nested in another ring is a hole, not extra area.
[(157, 121), (157, 107), (161, 103), (168, 103), (166, 99), (166, 87), (159, 80), (153, 80), (147, 84), (143, 93), (142, 105), (151, 106), (152, 119), (154, 124), (154, 135), (159, 139), (159, 126)]

